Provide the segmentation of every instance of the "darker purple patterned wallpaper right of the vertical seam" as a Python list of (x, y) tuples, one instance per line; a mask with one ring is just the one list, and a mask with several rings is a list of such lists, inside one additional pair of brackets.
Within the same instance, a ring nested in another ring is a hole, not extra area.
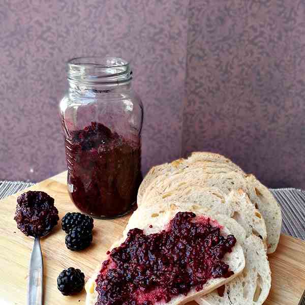
[(184, 154), (232, 158), (270, 187), (305, 188), (305, 2), (189, 6)]

